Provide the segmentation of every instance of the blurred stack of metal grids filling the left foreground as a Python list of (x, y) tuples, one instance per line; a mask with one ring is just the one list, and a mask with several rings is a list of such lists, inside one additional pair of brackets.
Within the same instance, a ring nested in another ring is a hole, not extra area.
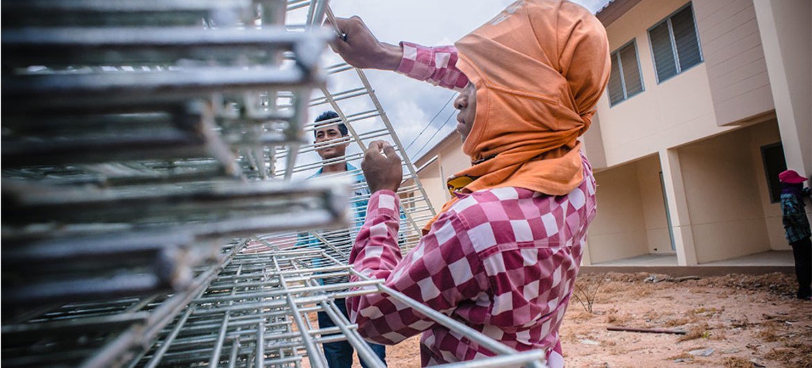
[(286, 6), (2, 2), (4, 366), (120, 366), (240, 237), (347, 223), (345, 184), (274, 180), (332, 37)]

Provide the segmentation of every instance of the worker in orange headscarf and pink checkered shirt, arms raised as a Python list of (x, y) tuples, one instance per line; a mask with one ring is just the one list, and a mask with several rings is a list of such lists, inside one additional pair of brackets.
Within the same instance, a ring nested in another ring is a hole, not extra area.
[[(387, 45), (357, 17), (336, 23), (345, 36), (332, 47), (351, 65), (461, 91), (456, 131), (472, 162), (449, 178), (452, 200), (403, 256), (400, 158), (387, 142), (370, 144), (361, 168), (373, 194), (350, 262), (486, 336), (542, 349), (548, 366), (564, 366), (559, 326), (596, 210), (577, 137), (608, 81), (603, 25), (561, 0), (515, 2), (454, 46)], [(493, 355), (385, 295), (348, 297), (347, 305), (367, 340), (397, 344), (422, 332), (422, 366)]]

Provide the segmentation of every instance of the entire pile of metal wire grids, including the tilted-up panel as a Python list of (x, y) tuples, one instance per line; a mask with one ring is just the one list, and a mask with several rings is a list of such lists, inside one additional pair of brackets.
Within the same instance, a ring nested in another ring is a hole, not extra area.
[[(414, 183), (404, 252), (434, 212), (365, 74), (319, 68), (326, 1), (2, 10), (3, 366), (326, 366), (337, 340), (382, 366), (335, 305), (369, 292), (498, 354), (464, 366), (538, 366), (348, 266), (368, 187), (357, 170), (303, 180), (318, 167), (391, 141)], [(328, 109), (351, 133), (328, 145), (350, 148), (323, 162)]]

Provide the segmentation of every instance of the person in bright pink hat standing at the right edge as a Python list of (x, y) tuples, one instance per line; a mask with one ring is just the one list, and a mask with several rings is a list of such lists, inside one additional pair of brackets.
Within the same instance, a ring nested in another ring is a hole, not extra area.
[(784, 223), (784, 236), (793, 247), (795, 275), (798, 279), (798, 299), (812, 298), (812, 230), (806, 217), (804, 197), (810, 197), (810, 188), (804, 188), (806, 178), (797, 171), (781, 171), (778, 175), (781, 188), (781, 221)]

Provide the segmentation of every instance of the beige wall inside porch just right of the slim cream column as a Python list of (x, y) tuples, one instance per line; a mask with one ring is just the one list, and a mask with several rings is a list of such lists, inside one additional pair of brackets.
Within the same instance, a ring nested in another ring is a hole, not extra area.
[(698, 263), (771, 249), (749, 132), (679, 149)]

